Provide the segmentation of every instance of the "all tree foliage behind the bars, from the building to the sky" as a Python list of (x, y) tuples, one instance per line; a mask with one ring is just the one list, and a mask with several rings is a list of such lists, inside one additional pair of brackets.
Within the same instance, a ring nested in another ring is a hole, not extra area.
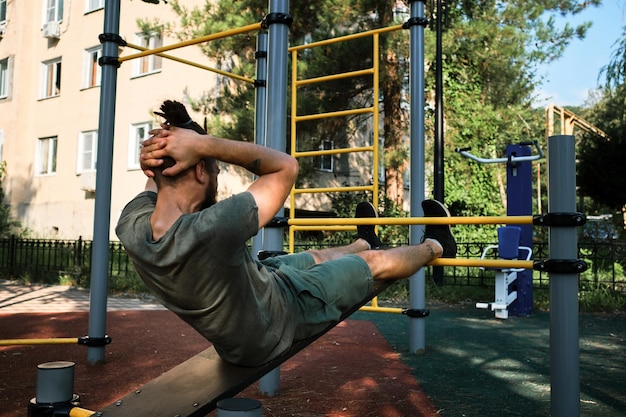
[[(394, 0), (320, 0), (290, 4), (294, 23), (292, 45), (314, 42), (397, 23)], [(431, 22), (436, 10), (428, 3)], [(506, 189), (504, 167), (480, 166), (454, 153), (455, 147), (472, 148), (484, 157), (501, 157), (507, 144), (538, 140), (544, 136), (544, 120), (533, 110), (533, 91), (540, 80), (537, 66), (557, 59), (568, 43), (583, 38), (590, 23), (559, 26), (555, 16), (575, 15), (600, 0), (449, 0), (443, 32), (445, 111), (445, 194), (453, 214), (494, 215), (504, 212)], [(180, 15), (181, 39), (216, 33), (260, 21), (267, 13), (267, 0), (207, 1), (197, 9), (186, 9), (181, 1), (171, 5)], [(403, 18), (407, 18), (404, 16)], [(430, 27), (432, 29), (432, 26)], [(253, 74), (253, 35), (242, 35), (203, 46), (222, 68)], [(435, 32), (425, 31), (427, 162), (432, 163)], [(405, 139), (408, 114), (403, 110), (407, 85), (403, 83), (409, 62), (406, 33), (381, 40), (381, 102), (384, 111), (385, 189), (387, 197), (402, 202), (402, 177), (407, 163)], [(367, 41), (346, 46), (339, 54), (321, 48), (304, 56), (303, 76), (316, 76), (328, 68), (349, 70), (371, 59)], [(197, 107), (213, 118), (213, 127), (236, 139), (252, 137), (253, 87), (225, 81), (220, 92), (196, 98)], [(363, 80), (325, 83), (306, 89), (298, 112), (333, 111), (363, 100), (371, 85)], [(338, 137), (349, 129), (348, 121), (319, 122), (305, 127), (310, 138)], [(308, 129), (308, 130), (307, 130)], [(333, 136), (335, 135), (335, 136)], [(315, 143), (304, 146), (315, 149)], [(302, 170), (306, 172), (306, 170)], [(426, 179), (431, 181), (429, 172)]]

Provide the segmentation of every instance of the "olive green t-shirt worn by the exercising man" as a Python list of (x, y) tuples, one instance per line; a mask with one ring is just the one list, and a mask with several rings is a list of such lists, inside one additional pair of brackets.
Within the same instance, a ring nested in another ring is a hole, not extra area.
[(155, 241), (150, 216), (156, 198), (146, 191), (128, 203), (116, 233), (163, 305), (228, 362), (258, 365), (288, 349), (296, 327), (294, 295), (282, 274), (253, 259), (247, 249), (258, 232), (252, 194), (183, 215)]

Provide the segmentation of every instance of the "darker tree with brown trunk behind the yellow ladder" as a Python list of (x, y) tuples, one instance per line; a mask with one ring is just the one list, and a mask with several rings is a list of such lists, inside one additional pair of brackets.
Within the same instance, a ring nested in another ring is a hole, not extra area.
[[(386, 27), (394, 20), (394, 1), (321, 1), (315, 5), (292, 2), (290, 13), (295, 17), (290, 29), (292, 44), (314, 42), (341, 36), (342, 34), (356, 33), (368, 29)], [(182, 30), (177, 31), (181, 39), (215, 33), (232, 27), (240, 27), (251, 22), (261, 20), (267, 13), (266, 0), (243, 0), (238, 2), (218, 1), (214, 4), (207, 2), (202, 9), (188, 10), (181, 2), (172, 2), (174, 10), (181, 16)], [(349, 23), (346, 23), (349, 22)], [(234, 58), (241, 58), (236, 72), (252, 74), (255, 42), (250, 36), (213, 42), (203, 46), (205, 53), (216, 59), (218, 65), (230, 66)], [(404, 41), (402, 41), (404, 39)], [(329, 55), (328, 50), (333, 54)], [(406, 56), (406, 33), (384, 35), (381, 37), (381, 96), (383, 113), (383, 132), (385, 138), (386, 178), (385, 188), (388, 196), (397, 203), (402, 202), (402, 176), (406, 169), (407, 152), (404, 149), (402, 138), (405, 136), (407, 118), (401, 111), (401, 91), (404, 79), (404, 67), (400, 65), (399, 53)], [(299, 70), (303, 77), (309, 78), (332, 73), (362, 69), (364, 65), (371, 66), (372, 47), (370, 40), (351, 41), (349, 45), (319, 48), (312, 50), (303, 57)], [(360, 67), (359, 67), (360, 66)], [(362, 97), (366, 90), (371, 95), (372, 84), (361, 78), (348, 79), (325, 83), (323, 86), (310, 87), (305, 90), (308, 98), (299, 101), (303, 114), (328, 112), (353, 108), (363, 104)], [(323, 97), (324, 100), (319, 100)], [(318, 98), (313, 100), (312, 98)], [(228, 122), (223, 119), (213, 119), (212, 128), (221, 129), (221, 133), (235, 139), (252, 137), (252, 112), (250, 103), (253, 102), (253, 88), (240, 83), (228, 83), (227, 88), (220, 94), (209, 92), (195, 101), (197, 108), (228, 114)], [(370, 99), (371, 105), (371, 99)], [(300, 109), (299, 109), (300, 111)], [(333, 138), (341, 145), (340, 133), (343, 132), (345, 141), (346, 132), (352, 129), (350, 119), (334, 119), (317, 122), (315, 126), (304, 127), (305, 136), (317, 138)], [(299, 127), (300, 132), (300, 127)], [(308, 135), (306, 135), (308, 133)], [(317, 144), (319, 145), (319, 143)], [(305, 143), (309, 149), (317, 149), (315, 143)], [(312, 162), (309, 162), (311, 165)], [(304, 162), (304, 168), (307, 163)], [(310, 170), (301, 169), (306, 176)]]

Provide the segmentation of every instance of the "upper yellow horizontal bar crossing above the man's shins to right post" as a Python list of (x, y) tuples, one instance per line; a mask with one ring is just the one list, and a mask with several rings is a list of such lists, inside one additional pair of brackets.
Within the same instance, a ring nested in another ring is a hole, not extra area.
[[(346, 187), (350, 188), (350, 187)], [(358, 187), (352, 187), (358, 188)], [(324, 189), (320, 189), (324, 190)], [(343, 190), (343, 189), (342, 189)], [(300, 191), (300, 190), (294, 190)], [(354, 191), (354, 190), (350, 190)], [(360, 191), (360, 190), (359, 190)], [(302, 192), (316, 192), (302, 190)], [(326, 191), (317, 191), (326, 192)], [(328, 191), (331, 192), (331, 191)], [(477, 217), (377, 217), (377, 218), (325, 218), (325, 219), (289, 219), (290, 226), (313, 225), (443, 225), (443, 224), (532, 224), (532, 216), (477, 216)]]

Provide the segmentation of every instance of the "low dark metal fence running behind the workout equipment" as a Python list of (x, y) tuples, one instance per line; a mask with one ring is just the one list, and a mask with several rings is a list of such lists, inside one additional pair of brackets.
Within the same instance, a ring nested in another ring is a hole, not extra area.
[[(484, 248), (494, 242), (459, 243), (459, 258), (480, 257)], [(313, 245), (297, 245), (296, 251)], [(56, 284), (63, 279), (79, 286), (88, 286), (91, 273), (91, 247), (89, 240), (44, 240), (17, 237), (0, 239), (0, 277), (24, 279), (29, 282)], [(319, 247), (316, 245), (316, 247)], [(548, 258), (548, 246), (535, 242), (534, 259)], [(580, 288), (604, 288), (626, 294), (626, 244), (616, 241), (590, 241), (579, 243), (579, 258), (589, 268), (580, 275)], [(136, 279), (132, 263), (119, 242), (109, 246), (109, 271), (113, 280)], [(427, 276), (430, 275), (430, 268)], [(534, 288), (548, 288), (547, 273), (535, 271)], [(445, 267), (443, 285), (493, 286), (494, 272), (471, 267)]]

